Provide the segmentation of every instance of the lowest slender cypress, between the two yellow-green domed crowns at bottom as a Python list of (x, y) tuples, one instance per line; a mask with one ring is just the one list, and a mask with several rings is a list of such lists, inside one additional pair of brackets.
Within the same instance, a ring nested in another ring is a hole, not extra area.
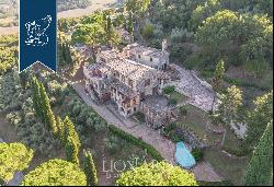
[(90, 151), (83, 150), (84, 161), (83, 161), (83, 171), (87, 176), (87, 183), (89, 186), (98, 186), (98, 174), (93, 157)]

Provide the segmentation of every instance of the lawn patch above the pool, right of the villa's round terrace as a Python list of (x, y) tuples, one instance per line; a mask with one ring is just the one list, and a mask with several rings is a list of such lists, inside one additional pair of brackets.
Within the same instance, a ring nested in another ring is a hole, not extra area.
[(206, 139), (205, 142), (214, 144), (215, 141), (221, 140), (221, 135), (214, 133), (206, 129), (206, 124), (210, 122), (208, 115), (202, 109), (186, 105), (184, 106), (187, 110), (187, 115), (180, 116), (178, 120), (178, 126), (186, 126), (189, 129), (194, 131), (199, 139)]

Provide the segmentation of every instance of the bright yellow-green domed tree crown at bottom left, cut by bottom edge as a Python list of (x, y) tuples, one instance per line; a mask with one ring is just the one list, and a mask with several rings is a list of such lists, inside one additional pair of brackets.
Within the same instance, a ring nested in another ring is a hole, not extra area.
[(78, 165), (56, 159), (30, 172), (22, 186), (87, 186), (87, 178)]

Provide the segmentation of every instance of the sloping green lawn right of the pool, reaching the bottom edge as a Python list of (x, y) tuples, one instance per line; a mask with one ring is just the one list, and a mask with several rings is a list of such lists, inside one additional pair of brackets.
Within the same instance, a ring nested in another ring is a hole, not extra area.
[(231, 159), (219, 150), (205, 151), (205, 160), (215, 171), (233, 185), (242, 185), (242, 177), (248, 165), (248, 159)]

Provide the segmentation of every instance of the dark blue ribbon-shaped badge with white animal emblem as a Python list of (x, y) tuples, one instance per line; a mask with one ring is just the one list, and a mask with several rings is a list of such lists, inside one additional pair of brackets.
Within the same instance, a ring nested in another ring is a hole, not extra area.
[(19, 72), (35, 62), (56, 71), (56, 0), (20, 0)]

